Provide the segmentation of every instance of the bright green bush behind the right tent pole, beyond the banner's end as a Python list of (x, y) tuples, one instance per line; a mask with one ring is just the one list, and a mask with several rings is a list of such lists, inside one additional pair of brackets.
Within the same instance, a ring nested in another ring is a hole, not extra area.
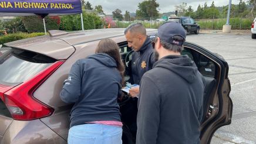
[[(83, 12), (84, 29), (100, 29), (103, 27), (103, 19), (96, 13)], [(82, 30), (80, 15), (66, 15), (60, 18), (60, 30)]]

